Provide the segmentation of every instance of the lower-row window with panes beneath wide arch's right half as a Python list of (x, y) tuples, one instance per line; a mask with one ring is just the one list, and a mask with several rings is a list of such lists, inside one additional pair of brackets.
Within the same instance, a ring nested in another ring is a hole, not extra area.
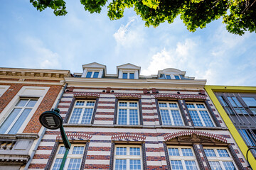
[(225, 148), (204, 148), (210, 168), (216, 170), (235, 170), (235, 163)]

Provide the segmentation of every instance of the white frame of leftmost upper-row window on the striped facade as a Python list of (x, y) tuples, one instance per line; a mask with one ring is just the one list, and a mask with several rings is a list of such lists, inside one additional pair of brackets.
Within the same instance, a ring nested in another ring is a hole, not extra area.
[[(76, 104), (78, 101), (84, 101), (84, 102), (85, 102), (85, 106), (75, 106), (75, 104)], [(94, 102), (94, 105), (93, 105), (93, 106), (86, 106), (86, 103), (87, 103), (87, 102), (90, 102), (90, 101), (93, 101), (93, 102)], [(68, 123), (70, 123), (70, 120), (71, 120), (71, 118), (72, 118), (72, 115), (73, 115), (73, 113), (74, 113), (75, 108), (82, 108), (82, 112), (81, 112), (80, 118), (79, 118), (78, 123), (77, 123), (77, 124), (81, 124), (81, 122), (82, 122), (82, 116), (85, 114), (85, 108), (92, 108), (92, 115), (93, 115), (93, 113), (94, 113), (94, 111), (95, 111), (95, 104), (96, 104), (96, 101), (95, 101), (95, 100), (75, 100), (75, 104), (74, 104), (74, 106), (73, 106), (72, 113), (70, 114), (70, 118), (69, 118), (69, 120), (68, 120)], [(91, 116), (91, 118), (90, 118), (90, 123), (89, 123), (89, 124), (91, 124), (91, 123), (92, 123), (92, 116)], [(73, 123), (72, 123), (72, 124), (73, 124)]]

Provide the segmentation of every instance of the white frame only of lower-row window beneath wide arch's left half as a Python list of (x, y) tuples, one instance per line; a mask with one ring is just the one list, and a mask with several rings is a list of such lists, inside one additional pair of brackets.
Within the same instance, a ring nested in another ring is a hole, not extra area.
[[(170, 156), (169, 154), (169, 148), (177, 148), (178, 149), (178, 153), (180, 156)], [(193, 153), (193, 156), (190, 157), (190, 156), (183, 156), (183, 153), (182, 153), (182, 150), (181, 149), (191, 149), (192, 153)], [(168, 152), (168, 155), (169, 155), (169, 162), (170, 162), (170, 165), (171, 165), (171, 160), (178, 160), (178, 161), (181, 161), (181, 164), (183, 166), (183, 169), (186, 170), (186, 164), (185, 164), (185, 161), (194, 161), (196, 162), (196, 168), (198, 170), (200, 170), (199, 166), (198, 166), (198, 162), (196, 160), (196, 154), (195, 152), (193, 151), (193, 147), (188, 147), (188, 146), (167, 146), (167, 152)]]

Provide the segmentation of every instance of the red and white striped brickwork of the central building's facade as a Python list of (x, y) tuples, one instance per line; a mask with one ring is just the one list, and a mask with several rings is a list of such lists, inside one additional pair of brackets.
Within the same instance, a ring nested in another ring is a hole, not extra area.
[[(60, 115), (65, 118), (70, 109), (70, 104), (73, 98), (82, 95), (92, 96), (97, 98), (97, 108), (95, 112), (95, 118), (92, 125), (78, 125), (65, 123), (65, 132), (68, 134), (70, 141), (73, 143), (87, 143), (87, 152), (85, 156), (85, 162), (83, 162), (82, 169), (112, 169), (113, 168), (113, 155), (114, 145), (141, 145), (142, 152), (144, 153), (144, 166), (143, 169), (148, 170), (163, 170), (169, 169), (169, 160), (166, 154), (166, 147), (174, 145), (171, 140), (177, 137), (189, 136), (196, 134), (202, 137), (208, 137), (213, 139), (223, 146), (232, 146), (234, 152), (243, 167), (246, 167), (244, 157), (240, 153), (238, 146), (235, 144), (233, 137), (227, 130), (225, 123), (220, 118), (218, 111), (210, 101), (207, 95), (198, 95), (199, 90), (191, 91), (179, 91), (181, 95), (177, 95), (178, 91), (162, 89), (159, 94), (152, 94), (151, 90), (149, 94), (144, 94), (143, 89), (111, 89), (110, 93), (102, 92), (106, 91), (106, 88), (79, 88), (75, 87), (72, 91), (66, 91), (61, 98), (58, 108), (60, 109)], [(114, 92), (111, 92), (114, 91)], [(130, 95), (129, 95), (130, 94)], [(161, 100), (159, 96), (177, 97), (176, 100), (181, 100), (181, 106), (185, 113), (188, 125), (184, 127), (175, 126), (162, 126), (159, 121), (159, 112), (157, 109), (156, 97)], [(167, 95), (168, 94), (168, 95)], [(170, 95), (173, 94), (173, 95)], [(189, 96), (189, 97), (188, 97)], [(116, 108), (116, 102), (124, 100), (125, 97), (137, 98), (141, 100), (142, 104), (142, 120), (143, 125), (115, 125), (114, 124), (114, 111)], [(116, 100), (118, 98), (118, 100)], [(220, 127), (214, 128), (194, 128), (191, 123), (191, 118), (186, 110), (186, 100), (207, 100), (210, 108), (212, 109), (216, 119), (220, 123)], [(72, 108), (71, 108), (72, 110)], [(47, 130), (42, 142), (40, 143), (38, 150), (36, 151), (33, 161), (29, 166), (29, 170), (45, 169), (49, 164), (50, 154), (55, 153), (56, 142), (61, 143), (60, 132), (58, 130)], [(177, 144), (176, 144), (177, 145)], [(208, 169), (209, 165), (206, 160), (206, 156), (203, 154), (202, 145), (196, 143), (189, 145), (193, 147), (198, 154), (197, 157), (201, 158), (201, 166), (204, 169)], [(227, 147), (228, 148), (228, 147)], [(54, 157), (53, 157), (54, 158)], [(53, 160), (52, 160), (53, 162)], [(198, 162), (198, 164), (200, 164)], [(50, 167), (50, 165), (48, 166)]]

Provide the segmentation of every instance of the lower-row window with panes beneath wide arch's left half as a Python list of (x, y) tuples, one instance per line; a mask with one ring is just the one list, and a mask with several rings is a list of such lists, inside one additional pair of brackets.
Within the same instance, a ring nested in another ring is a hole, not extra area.
[(192, 147), (168, 147), (171, 169), (199, 169)]

